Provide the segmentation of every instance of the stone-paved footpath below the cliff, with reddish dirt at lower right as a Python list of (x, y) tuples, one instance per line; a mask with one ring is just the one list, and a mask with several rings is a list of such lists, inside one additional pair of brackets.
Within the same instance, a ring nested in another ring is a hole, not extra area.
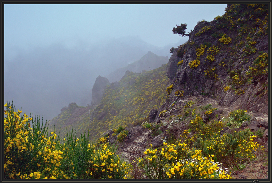
[[(229, 112), (236, 110), (231, 107), (224, 107), (220, 106), (218, 104), (218, 101), (216, 101), (213, 98), (209, 98), (207, 96), (185, 96), (183, 99), (180, 99), (180, 103), (186, 103), (188, 101), (193, 101), (197, 105), (207, 105), (212, 104), (212, 107), (217, 108), (218, 110), (222, 110), (222, 114), (224, 116), (228, 115)], [(180, 108), (181, 106), (178, 106), (177, 108)], [(183, 106), (182, 106), (183, 107)], [(175, 108), (176, 109), (176, 108)], [(175, 110), (172, 109), (172, 110)], [(252, 117), (254, 117), (257, 121), (263, 121), (268, 122), (268, 116), (266, 114), (261, 113), (254, 113), (254, 112), (247, 112)], [(166, 120), (166, 119), (165, 119)], [(154, 138), (154, 136), (151, 135), (152, 131), (148, 129), (143, 129), (141, 126), (138, 126), (138, 128), (141, 128), (142, 131), (138, 134), (137, 137), (135, 137), (134, 140), (128, 140), (127, 142), (123, 143), (123, 145), (118, 149), (118, 153), (122, 154), (122, 157), (125, 158), (127, 161), (129, 161), (129, 157), (132, 156), (141, 156), (142, 152), (145, 150), (145, 147), (149, 145), (151, 140)], [(260, 139), (262, 141), (262, 139)], [(267, 146), (267, 142), (263, 141), (263, 143)], [(268, 179), (268, 156), (264, 156), (264, 158), (260, 158), (256, 161), (250, 162), (247, 164), (246, 168), (244, 168), (242, 171), (237, 171), (232, 173), (233, 179)]]

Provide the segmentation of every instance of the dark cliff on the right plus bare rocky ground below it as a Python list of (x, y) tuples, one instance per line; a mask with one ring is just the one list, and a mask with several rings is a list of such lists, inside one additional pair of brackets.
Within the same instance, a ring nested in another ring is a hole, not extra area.
[[(267, 153), (270, 125), (267, 27), (265, 5), (228, 5), (222, 17), (218, 16), (212, 22), (200, 21), (189, 33), (188, 43), (174, 49), (169, 59), (166, 75), (170, 84), (166, 102), (157, 112), (150, 111), (149, 123), (126, 128), (129, 135), (121, 142), (119, 152), (128, 160), (133, 160), (134, 156), (142, 156), (141, 153), (150, 144), (156, 148), (171, 136), (178, 139), (190, 129), (188, 125), (193, 118), (188, 119), (188, 116), (193, 109), (184, 111), (184, 106), (193, 101), (194, 110), (207, 104), (217, 108), (210, 116), (200, 112), (206, 124), (213, 120), (223, 121), (231, 111), (246, 109), (251, 115), (250, 120), (245, 120), (237, 128), (225, 126), (221, 133), (250, 129), (257, 134), (261, 129), (263, 136), (259, 134), (255, 141), (262, 144)], [(177, 95), (180, 91), (184, 96)], [(180, 120), (179, 116), (183, 115), (187, 117)], [(174, 119), (179, 121), (175, 127)], [(109, 142), (117, 141), (111, 130), (103, 135), (107, 134)], [(233, 178), (268, 178), (268, 158), (259, 155), (263, 157), (247, 163), (247, 168), (240, 171), (232, 169)]]

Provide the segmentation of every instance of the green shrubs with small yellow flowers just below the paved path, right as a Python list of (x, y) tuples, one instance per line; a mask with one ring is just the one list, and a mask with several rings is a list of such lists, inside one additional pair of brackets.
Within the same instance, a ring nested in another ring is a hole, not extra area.
[[(211, 104), (200, 108), (206, 110), (206, 114), (215, 110), (215, 108), (211, 108)], [(200, 108), (195, 108), (195, 110)], [(249, 129), (240, 132), (232, 131), (222, 136), (220, 131), (230, 118), (239, 122), (240, 126), (244, 120), (249, 120), (250, 116), (245, 112), (246, 110), (235, 110), (230, 112), (227, 118), (222, 118), (221, 121), (214, 120), (205, 124), (200, 116), (195, 116), (190, 120), (188, 128), (182, 132), (181, 143), (188, 144), (189, 149), (201, 150), (204, 156), (212, 156), (215, 161), (222, 162), (224, 166), (239, 167), (239, 163), (254, 159), (255, 152), (263, 147), (253, 141), (256, 136), (251, 135)]]

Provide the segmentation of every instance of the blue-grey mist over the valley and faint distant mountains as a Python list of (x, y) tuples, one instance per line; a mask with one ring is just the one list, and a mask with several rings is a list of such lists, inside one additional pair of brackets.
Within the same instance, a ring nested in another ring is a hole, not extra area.
[[(109, 77), (110, 73), (138, 61), (149, 51), (157, 57), (169, 58), (169, 49), (185, 41), (186, 38), (157, 47), (128, 36), (86, 47), (69, 48), (59, 43), (29, 50), (8, 50), (4, 63), (4, 102), (13, 99), (15, 106), (22, 107), (24, 112), (51, 120), (71, 102), (79, 106), (91, 104), (92, 87), (99, 75)], [(11, 52), (13, 57), (9, 55)], [(152, 66), (152, 69), (155, 68)]]

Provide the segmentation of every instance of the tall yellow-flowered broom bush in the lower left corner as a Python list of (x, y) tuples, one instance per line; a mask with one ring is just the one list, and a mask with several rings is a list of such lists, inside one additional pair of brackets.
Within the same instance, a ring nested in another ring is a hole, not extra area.
[(13, 102), (4, 106), (4, 178), (68, 178), (60, 169), (63, 152), (57, 135), (48, 134), (47, 122), (41, 124), (39, 116), (33, 120), (32, 115), (20, 115)]

